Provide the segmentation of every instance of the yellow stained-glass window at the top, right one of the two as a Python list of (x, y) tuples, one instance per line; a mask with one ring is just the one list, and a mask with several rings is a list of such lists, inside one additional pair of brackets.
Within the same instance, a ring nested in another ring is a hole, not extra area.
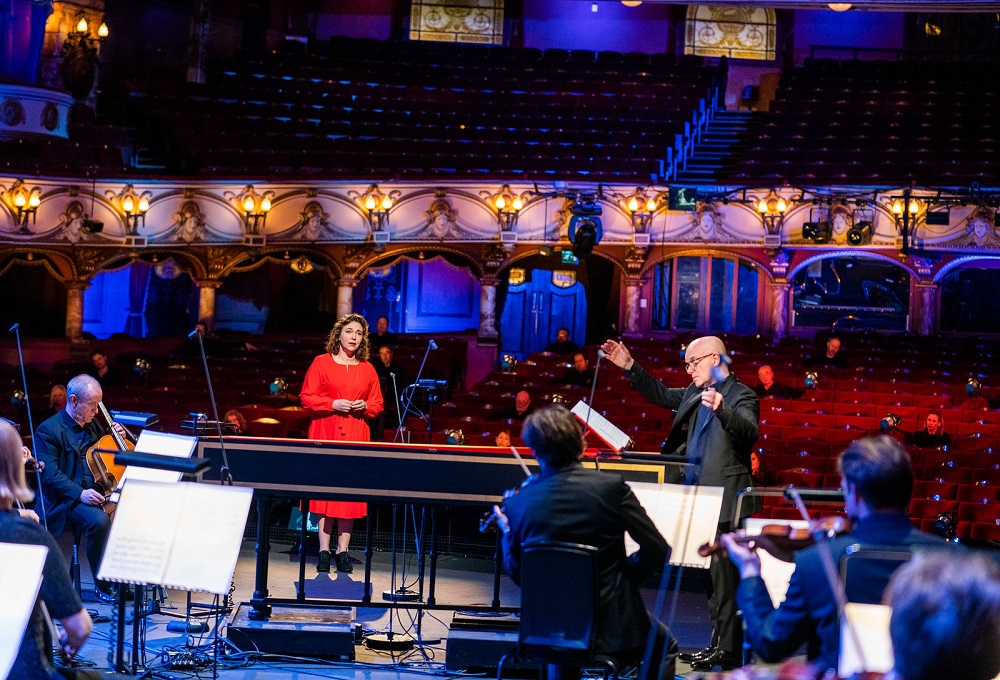
[(730, 59), (775, 59), (774, 10), (689, 5), (684, 54)]

